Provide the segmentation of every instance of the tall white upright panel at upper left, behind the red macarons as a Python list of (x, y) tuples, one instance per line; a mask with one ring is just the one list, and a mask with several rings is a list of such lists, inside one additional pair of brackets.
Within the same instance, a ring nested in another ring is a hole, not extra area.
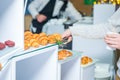
[(24, 0), (2, 0), (0, 5), (0, 42), (9, 39), (23, 47)]

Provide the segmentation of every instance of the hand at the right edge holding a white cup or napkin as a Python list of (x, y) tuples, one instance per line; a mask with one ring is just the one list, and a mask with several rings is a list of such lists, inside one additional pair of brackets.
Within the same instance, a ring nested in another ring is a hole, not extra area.
[(107, 34), (104, 40), (110, 47), (120, 49), (120, 34)]

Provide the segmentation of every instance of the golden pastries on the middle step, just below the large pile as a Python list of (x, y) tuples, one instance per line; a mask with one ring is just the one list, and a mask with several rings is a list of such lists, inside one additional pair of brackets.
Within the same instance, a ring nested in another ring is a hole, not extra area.
[(58, 60), (64, 60), (70, 56), (72, 56), (72, 52), (68, 50), (63, 49), (63, 50), (58, 51)]

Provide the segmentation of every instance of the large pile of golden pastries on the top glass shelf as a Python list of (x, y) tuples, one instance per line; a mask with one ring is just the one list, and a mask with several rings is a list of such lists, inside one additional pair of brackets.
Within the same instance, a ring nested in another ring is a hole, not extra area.
[(62, 37), (58, 33), (47, 35), (44, 32), (39, 34), (33, 34), (30, 31), (24, 33), (24, 49), (29, 49), (30, 47), (37, 48), (39, 46), (45, 46), (47, 44), (54, 44), (57, 41), (61, 41)]

